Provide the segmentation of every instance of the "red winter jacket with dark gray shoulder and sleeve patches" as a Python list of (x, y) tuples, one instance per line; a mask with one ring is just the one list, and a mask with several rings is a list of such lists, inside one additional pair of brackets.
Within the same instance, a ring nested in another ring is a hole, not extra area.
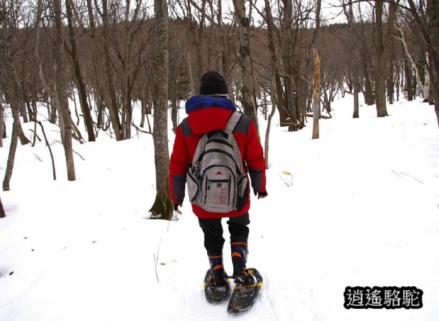
[[(230, 100), (229, 102), (233, 105)], [(188, 117), (177, 127), (174, 149), (170, 156), (169, 185), (170, 196), (174, 204), (183, 203), (186, 173), (192, 164), (192, 158), (200, 138), (204, 133), (214, 129), (224, 130), (233, 112), (230, 109), (222, 108), (221, 104), (217, 105), (220, 106), (207, 108), (203, 106), (203, 108), (196, 110), (188, 110), (186, 105)], [(250, 174), (254, 193), (265, 193), (265, 159), (253, 121), (243, 115), (233, 131), (233, 136), (241, 152), (242, 167), (246, 174)], [(240, 211), (233, 210), (228, 213), (209, 212), (192, 204), (195, 215), (204, 219), (236, 217), (248, 212), (249, 208), (250, 189), (247, 204)]]

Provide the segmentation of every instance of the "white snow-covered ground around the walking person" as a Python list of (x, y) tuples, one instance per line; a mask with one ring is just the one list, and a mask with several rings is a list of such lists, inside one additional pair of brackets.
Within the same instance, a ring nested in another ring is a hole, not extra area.
[[(319, 140), (310, 139), (312, 121), (291, 133), (273, 119), (269, 197), (252, 198), (250, 211), (248, 266), (262, 273), (264, 285), (239, 319), (437, 320), (433, 106), (396, 102), (389, 117), (377, 118), (375, 106), (363, 105), (359, 119), (352, 119), (352, 97), (333, 108), (333, 118), (320, 122)], [(59, 141), (57, 128), (44, 124)], [(262, 138), (265, 126), (261, 118)], [(23, 124), (29, 138), (31, 128)], [(11, 129), (9, 119), (2, 179)], [(171, 150), (173, 141), (170, 132)], [(236, 317), (226, 303), (204, 298), (208, 260), (187, 199), (176, 222), (144, 219), (155, 197), (151, 135), (115, 142), (100, 132), (95, 143), (75, 141), (85, 159), (75, 154), (75, 182), (66, 181), (61, 144), (52, 147), (58, 180), (43, 142), (19, 145), (11, 191), (0, 193), (7, 213), (0, 219), (0, 320)], [(224, 252), (232, 271), (227, 243)], [(424, 307), (346, 310), (346, 286), (416, 286)]]

